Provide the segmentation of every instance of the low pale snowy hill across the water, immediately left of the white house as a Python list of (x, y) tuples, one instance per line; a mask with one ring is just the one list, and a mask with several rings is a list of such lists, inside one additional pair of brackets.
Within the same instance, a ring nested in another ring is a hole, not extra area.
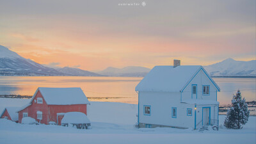
[(103, 74), (106, 76), (116, 76), (116, 77), (143, 77), (150, 71), (150, 68), (146, 67), (124, 67), (124, 68), (114, 68), (108, 67), (105, 70), (97, 72), (98, 74)]

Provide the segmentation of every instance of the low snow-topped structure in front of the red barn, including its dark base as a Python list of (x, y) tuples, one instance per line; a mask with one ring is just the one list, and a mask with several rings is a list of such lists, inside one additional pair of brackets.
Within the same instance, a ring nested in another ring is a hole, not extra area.
[(77, 129), (91, 129), (91, 122), (84, 113), (68, 112), (61, 120), (63, 126), (76, 126)]

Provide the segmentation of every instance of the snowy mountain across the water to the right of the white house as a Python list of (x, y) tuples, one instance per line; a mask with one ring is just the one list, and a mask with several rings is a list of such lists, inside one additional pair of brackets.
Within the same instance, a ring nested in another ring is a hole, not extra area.
[(204, 66), (212, 76), (256, 76), (256, 60), (236, 61), (232, 58)]

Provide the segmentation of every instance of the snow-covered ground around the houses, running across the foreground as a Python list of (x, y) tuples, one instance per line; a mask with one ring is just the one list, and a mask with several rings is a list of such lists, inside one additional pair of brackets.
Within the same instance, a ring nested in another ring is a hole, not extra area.
[[(20, 101), (20, 102), (19, 102)], [(0, 110), (26, 104), (22, 99), (0, 98)], [(193, 129), (136, 129), (136, 104), (90, 102), (88, 118), (92, 129), (58, 125), (24, 125), (0, 119), (0, 143), (256, 143), (256, 117), (250, 116), (243, 129), (205, 131)], [(225, 116), (220, 115), (220, 124)]]

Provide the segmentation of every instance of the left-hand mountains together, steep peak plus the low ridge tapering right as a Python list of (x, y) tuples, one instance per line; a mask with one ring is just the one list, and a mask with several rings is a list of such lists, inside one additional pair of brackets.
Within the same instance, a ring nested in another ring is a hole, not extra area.
[(102, 76), (79, 68), (50, 68), (0, 45), (0, 76)]

